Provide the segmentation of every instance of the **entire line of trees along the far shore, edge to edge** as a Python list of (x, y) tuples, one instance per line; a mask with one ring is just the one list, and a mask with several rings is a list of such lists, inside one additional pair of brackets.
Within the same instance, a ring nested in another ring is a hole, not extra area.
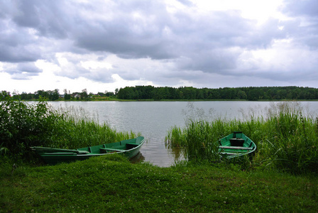
[[(93, 94), (88, 93), (87, 89), (82, 89), (82, 92), (67, 92), (59, 93), (59, 89), (54, 90), (38, 90), (34, 93), (22, 92), (15, 94), (13, 97), (22, 100), (45, 99), (55, 101), (57, 99), (64, 100), (91, 100), (95, 97), (113, 97), (117, 99), (154, 99), (154, 100), (310, 100), (318, 99), (318, 89), (312, 87), (224, 87), (218, 89), (210, 88), (195, 88), (195, 87), (153, 87), (153, 86), (135, 86), (116, 89), (115, 92), (98, 92)], [(6, 96), (11, 96), (10, 92), (2, 91), (0, 99), (5, 99)]]

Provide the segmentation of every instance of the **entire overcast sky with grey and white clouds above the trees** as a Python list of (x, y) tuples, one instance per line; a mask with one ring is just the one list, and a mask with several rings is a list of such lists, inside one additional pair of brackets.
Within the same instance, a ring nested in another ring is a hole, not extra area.
[(317, 0), (1, 0), (0, 90), (318, 87)]

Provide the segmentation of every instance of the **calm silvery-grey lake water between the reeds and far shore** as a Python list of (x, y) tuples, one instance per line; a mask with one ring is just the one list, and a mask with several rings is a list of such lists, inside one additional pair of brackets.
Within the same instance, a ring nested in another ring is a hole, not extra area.
[[(85, 116), (107, 122), (117, 131), (140, 132), (146, 138), (141, 148), (145, 161), (167, 167), (175, 157), (165, 148), (165, 136), (173, 126), (185, 126), (188, 116), (212, 120), (267, 116), (278, 102), (49, 102), (55, 109), (77, 109)], [(299, 102), (305, 113), (317, 114), (318, 102)]]

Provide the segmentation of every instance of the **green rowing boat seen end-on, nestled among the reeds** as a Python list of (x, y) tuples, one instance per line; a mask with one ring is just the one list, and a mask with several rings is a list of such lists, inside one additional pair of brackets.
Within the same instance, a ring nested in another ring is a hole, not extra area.
[(256, 151), (256, 144), (241, 131), (219, 139), (219, 153), (224, 158), (236, 158)]

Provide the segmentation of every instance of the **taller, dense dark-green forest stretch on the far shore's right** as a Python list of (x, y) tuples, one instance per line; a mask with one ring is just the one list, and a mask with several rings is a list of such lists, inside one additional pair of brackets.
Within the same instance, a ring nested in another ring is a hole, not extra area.
[(318, 89), (312, 87), (224, 87), (209, 89), (136, 86), (119, 89), (117, 97), (118, 99), (245, 99), (249, 101), (318, 99)]

